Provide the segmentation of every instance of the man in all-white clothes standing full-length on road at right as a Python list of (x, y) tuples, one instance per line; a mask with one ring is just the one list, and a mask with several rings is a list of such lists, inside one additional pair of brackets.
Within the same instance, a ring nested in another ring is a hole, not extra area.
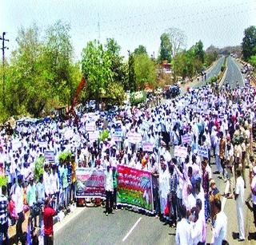
[(234, 199), (236, 201), (237, 208), (237, 219), (238, 219), (238, 231), (239, 239), (238, 241), (245, 240), (245, 229), (243, 220), (243, 206), (244, 206), (244, 195), (245, 195), (245, 181), (242, 179), (241, 171), (237, 170), (237, 182), (235, 185)]

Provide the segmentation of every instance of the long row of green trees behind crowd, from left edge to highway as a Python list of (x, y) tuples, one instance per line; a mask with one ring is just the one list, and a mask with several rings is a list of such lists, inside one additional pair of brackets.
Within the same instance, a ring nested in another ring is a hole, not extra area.
[[(149, 55), (144, 45), (129, 52), (126, 60), (114, 38), (102, 44), (89, 41), (80, 61), (74, 61), (70, 25), (62, 21), (42, 31), (38, 26), (20, 28), (17, 48), (0, 68), (0, 121), (11, 116), (42, 117), (52, 109), (71, 105), (82, 76), (86, 87), (80, 102), (94, 99), (122, 104), (125, 92), (154, 89), (159, 85), (157, 65), (168, 62), (176, 76), (193, 77), (217, 58), (206, 52), (202, 41), (186, 49), (186, 36), (170, 28), (160, 37), (158, 57)], [(166, 83), (170, 83), (170, 78)]]

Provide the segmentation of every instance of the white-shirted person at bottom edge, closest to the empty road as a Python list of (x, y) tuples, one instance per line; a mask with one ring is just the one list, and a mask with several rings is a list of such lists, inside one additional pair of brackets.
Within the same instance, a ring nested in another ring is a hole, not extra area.
[(191, 241), (191, 227), (186, 219), (186, 207), (181, 207), (182, 219), (177, 223), (175, 243), (176, 245), (190, 245)]

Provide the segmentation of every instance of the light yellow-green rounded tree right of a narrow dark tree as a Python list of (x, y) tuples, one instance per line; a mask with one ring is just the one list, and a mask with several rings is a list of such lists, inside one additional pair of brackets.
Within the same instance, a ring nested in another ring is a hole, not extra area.
[(144, 89), (145, 85), (155, 87), (156, 72), (154, 61), (147, 54), (134, 55), (134, 71), (136, 89)]

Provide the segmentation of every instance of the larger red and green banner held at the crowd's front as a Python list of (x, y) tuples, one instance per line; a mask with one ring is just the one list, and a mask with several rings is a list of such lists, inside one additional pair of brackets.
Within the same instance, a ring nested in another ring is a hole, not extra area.
[(118, 165), (117, 203), (154, 213), (151, 173)]

